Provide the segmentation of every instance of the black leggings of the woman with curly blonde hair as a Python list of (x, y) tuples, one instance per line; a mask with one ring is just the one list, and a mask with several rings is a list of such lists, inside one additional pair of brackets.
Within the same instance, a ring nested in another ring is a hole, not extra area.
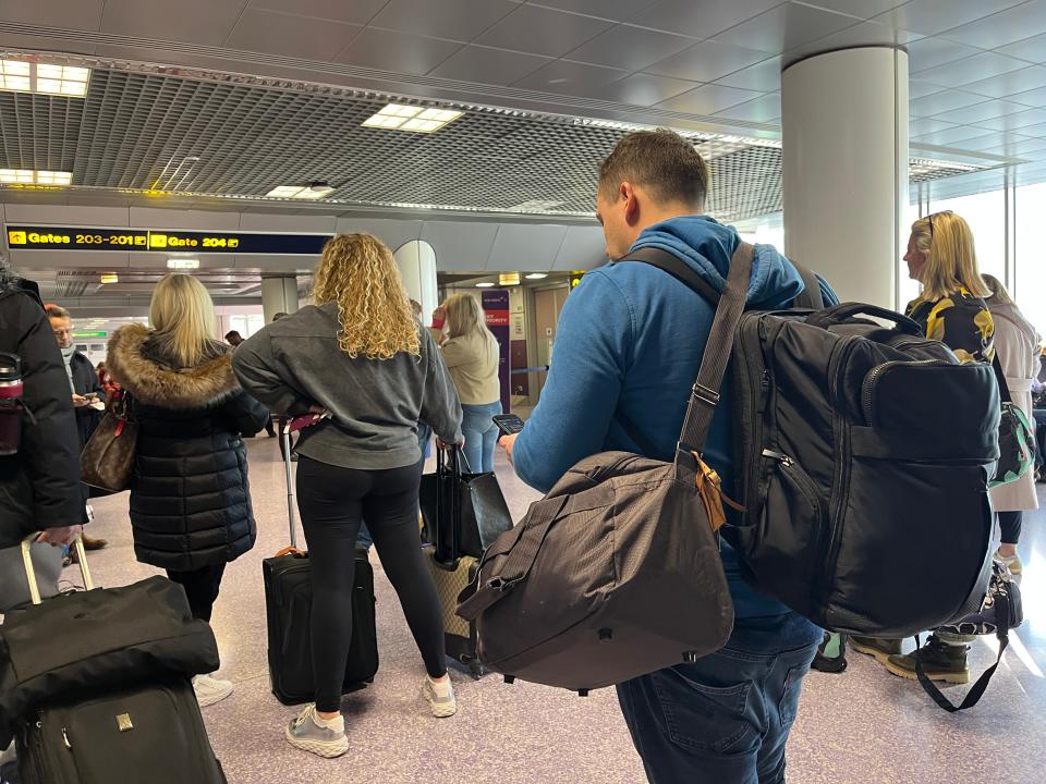
[(366, 517), (378, 556), (434, 677), (447, 674), (443, 613), (417, 536), (418, 464), (388, 470), (341, 468), (302, 455), (297, 507), (313, 567), (313, 673), (316, 709), (341, 707), (352, 639), (356, 534)]

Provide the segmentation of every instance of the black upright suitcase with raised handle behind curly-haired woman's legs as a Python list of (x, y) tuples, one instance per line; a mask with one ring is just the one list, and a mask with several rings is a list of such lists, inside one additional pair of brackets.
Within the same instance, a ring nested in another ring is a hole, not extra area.
[[(291, 547), (262, 562), (265, 607), (269, 629), (269, 681), (272, 694), (283, 705), (301, 705), (315, 698), (309, 617), (313, 584), (308, 553), (299, 550), (294, 513), (294, 476), (291, 471), (291, 438), (281, 433), (287, 473), (287, 512)], [(374, 613), (374, 569), (365, 548), (356, 548), (352, 592), (352, 644), (345, 665), (343, 691), (355, 691), (374, 681), (378, 672), (378, 636)]]

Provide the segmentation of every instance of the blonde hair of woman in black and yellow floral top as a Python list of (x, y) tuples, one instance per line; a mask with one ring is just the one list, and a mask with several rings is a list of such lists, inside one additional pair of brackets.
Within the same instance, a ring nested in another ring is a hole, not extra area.
[(977, 269), (973, 232), (962, 218), (950, 210), (920, 218), (912, 223), (912, 238), (916, 248), (929, 252), (919, 275), (923, 299), (936, 302), (960, 287), (973, 296), (990, 296)]

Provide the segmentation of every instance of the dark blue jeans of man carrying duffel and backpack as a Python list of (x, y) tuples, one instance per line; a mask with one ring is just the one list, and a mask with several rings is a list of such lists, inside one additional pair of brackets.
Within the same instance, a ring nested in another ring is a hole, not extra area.
[(738, 618), (721, 650), (618, 686), (652, 784), (782, 784), (784, 744), (822, 632), (795, 614)]

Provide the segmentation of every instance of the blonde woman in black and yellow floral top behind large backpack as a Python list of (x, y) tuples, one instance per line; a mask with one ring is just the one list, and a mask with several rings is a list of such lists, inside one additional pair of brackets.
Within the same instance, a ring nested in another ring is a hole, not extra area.
[[(942, 341), (961, 362), (990, 363), (995, 324), (984, 302), (990, 290), (981, 279), (970, 225), (953, 212), (936, 212), (912, 224), (908, 241), (909, 275), (923, 286), (907, 314), (927, 338)], [(903, 544), (902, 544), (903, 547)], [(933, 553), (927, 553), (933, 558)], [(966, 653), (975, 638), (935, 632), (917, 653), (901, 654), (901, 640), (851, 637), (851, 647), (874, 656), (895, 675), (912, 678), (916, 656), (932, 681), (966, 683)]]

